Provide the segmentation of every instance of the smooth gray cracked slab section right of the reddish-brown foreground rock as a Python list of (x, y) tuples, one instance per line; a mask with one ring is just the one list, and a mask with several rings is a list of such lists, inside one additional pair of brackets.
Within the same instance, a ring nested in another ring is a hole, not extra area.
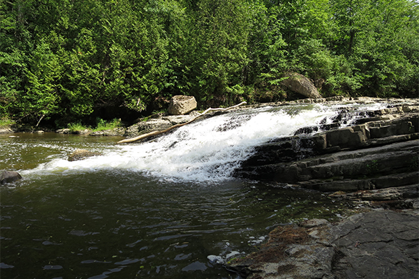
[(341, 252), (335, 264), (337, 278), (415, 278), (418, 231), (418, 216), (394, 211), (348, 218), (332, 232)]

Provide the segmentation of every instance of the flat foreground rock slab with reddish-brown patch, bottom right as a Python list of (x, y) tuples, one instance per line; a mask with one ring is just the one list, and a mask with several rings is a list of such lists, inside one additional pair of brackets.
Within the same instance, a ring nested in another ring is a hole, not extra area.
[(277, 227), (257, 252), (228, 269), (247, 279), (415, 278), (418, 229), (418, 215), (385, 210), (337, 225), (308, 220)]

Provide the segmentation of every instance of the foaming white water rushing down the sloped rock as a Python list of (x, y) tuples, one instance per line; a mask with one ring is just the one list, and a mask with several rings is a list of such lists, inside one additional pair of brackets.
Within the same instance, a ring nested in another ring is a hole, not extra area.
[[(384, 104), (377, 103), (358, 105), (356, 109), (383, 107)], [(101, 150), (103, 156), (74, 162), (55, 158), (25, 172), (124, 169), (166, 181), (223, 181), (230, 179), (234, 169), (251, 156), (254, 146), (275, 137), (293, 135), (295, 130), (317, 125), (323, 119), (327, 123), (339, 108), (342, 107), (316, 104), (232, 112), (182, 126), (153, 141), (105, 146)]]

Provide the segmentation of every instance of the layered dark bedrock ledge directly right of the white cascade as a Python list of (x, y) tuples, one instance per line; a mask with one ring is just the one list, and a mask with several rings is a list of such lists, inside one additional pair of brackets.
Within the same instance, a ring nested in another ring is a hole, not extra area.
[(399, 105), (339, 128), (343, 111), (332, 123), (257, 146), (235, 175), (325, 192), (418, 185), (418, 112), (417, 104)]

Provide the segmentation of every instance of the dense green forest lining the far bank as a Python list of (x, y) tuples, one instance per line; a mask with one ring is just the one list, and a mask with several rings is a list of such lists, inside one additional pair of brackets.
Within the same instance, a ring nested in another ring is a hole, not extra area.
[(0, 0), (0, 118), (128, 118), (322, 96), (418, 97), (412, 0)]

